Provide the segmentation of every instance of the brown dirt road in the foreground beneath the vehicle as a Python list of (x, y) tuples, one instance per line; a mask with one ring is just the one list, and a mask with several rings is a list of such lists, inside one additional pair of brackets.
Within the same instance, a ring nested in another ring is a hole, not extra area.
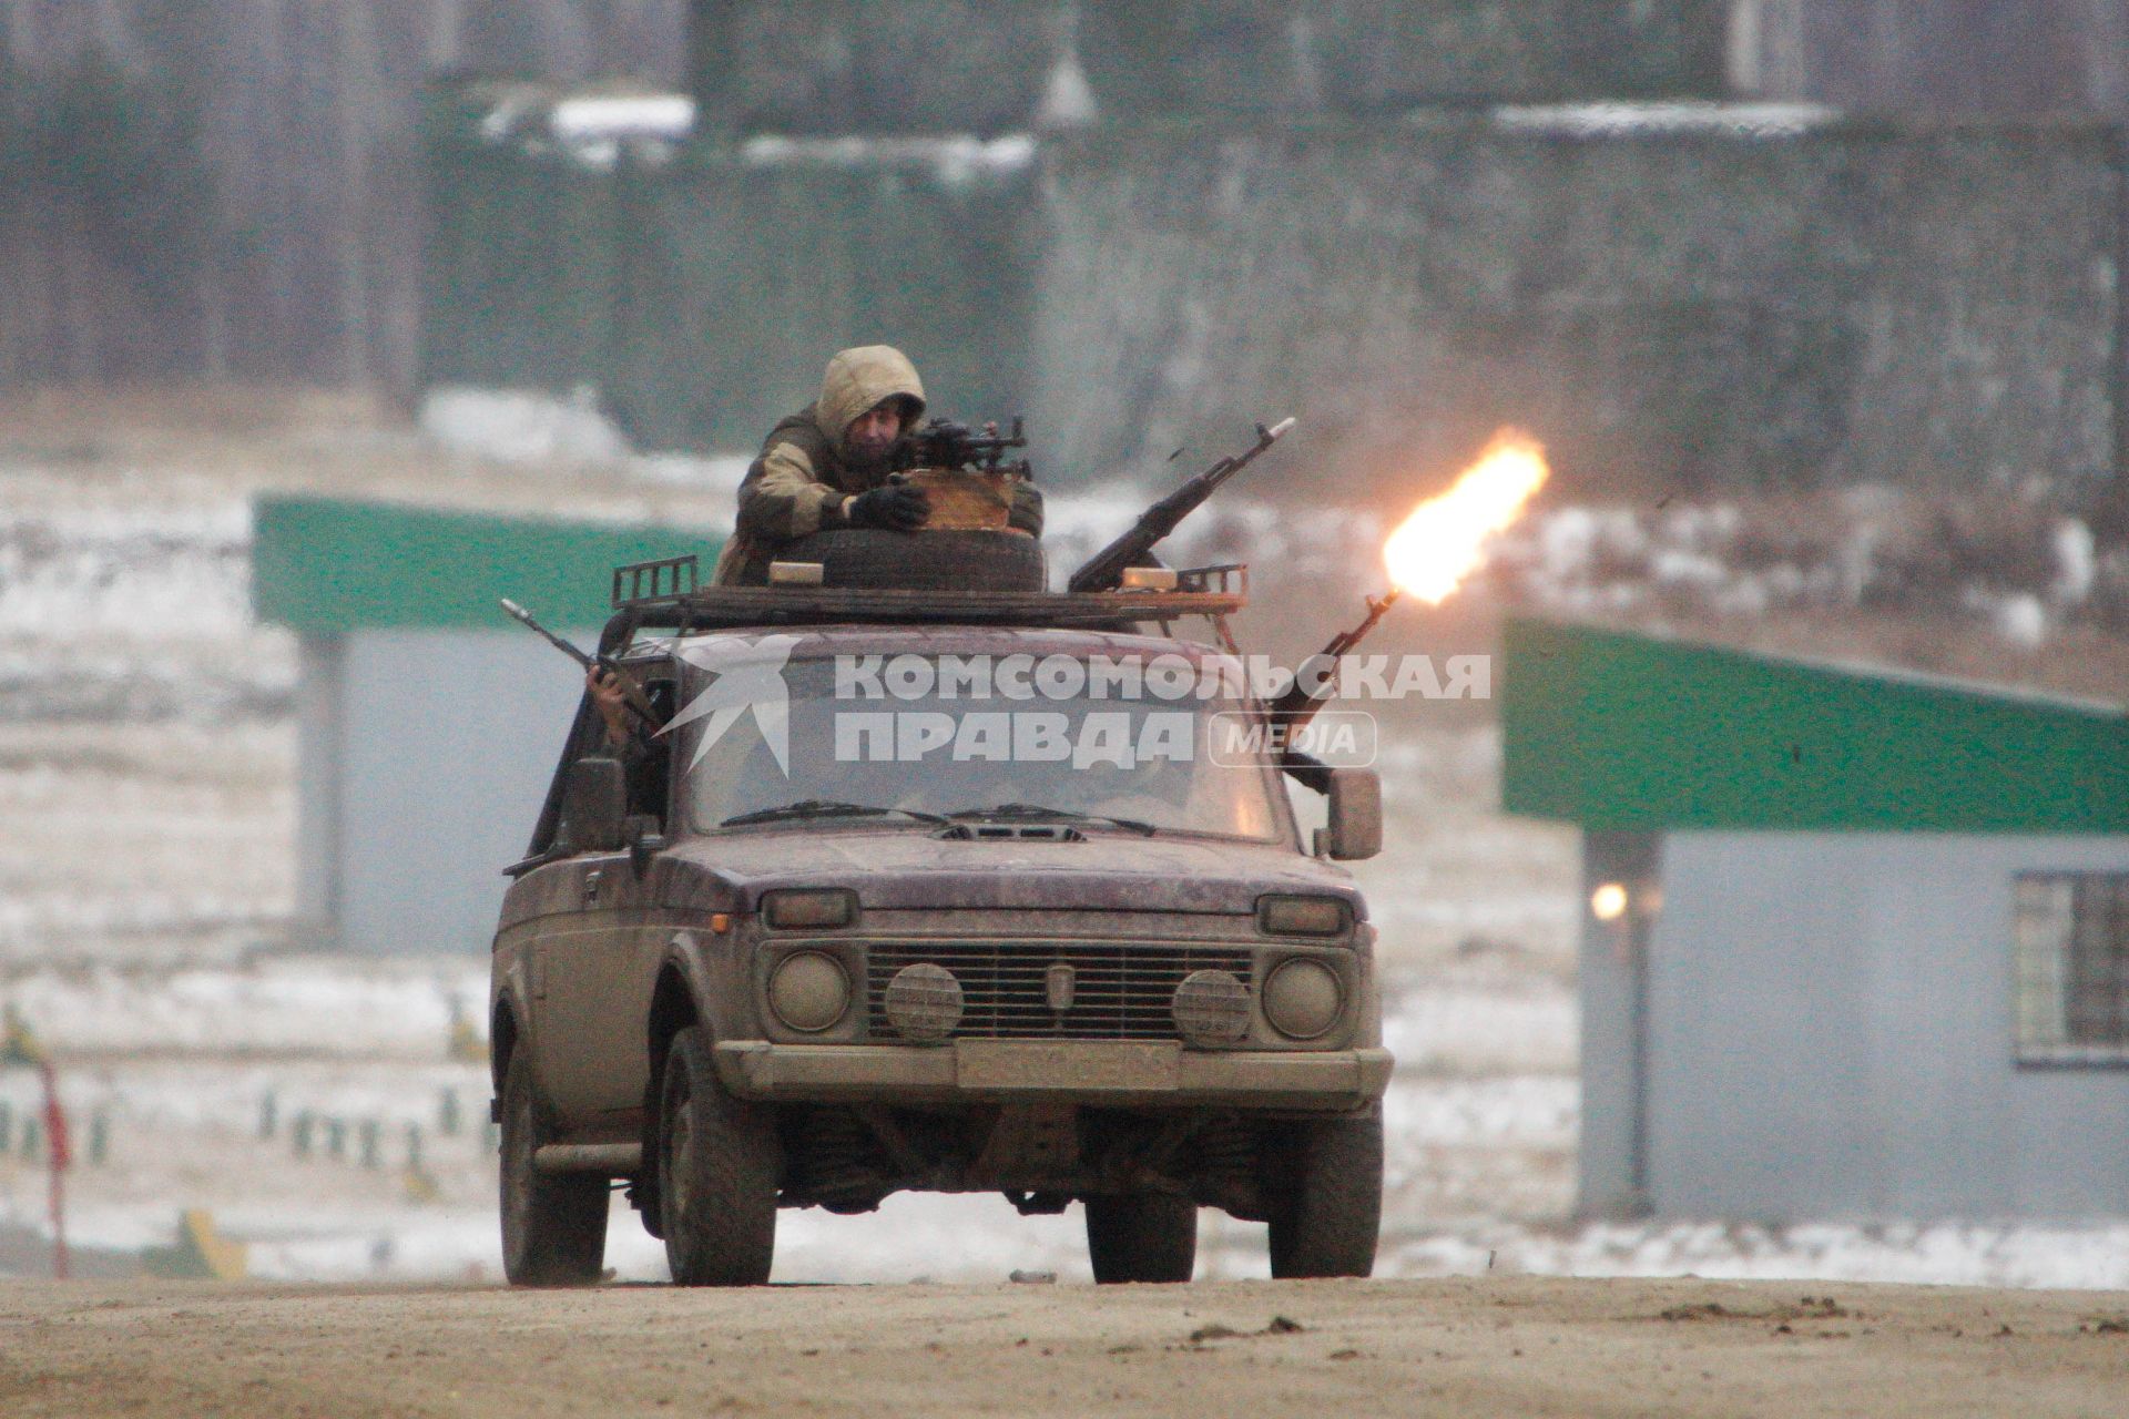
[(2129, 1296), (0, 1283), (0, 1413), (2112, 1417), (2129, 1413)]

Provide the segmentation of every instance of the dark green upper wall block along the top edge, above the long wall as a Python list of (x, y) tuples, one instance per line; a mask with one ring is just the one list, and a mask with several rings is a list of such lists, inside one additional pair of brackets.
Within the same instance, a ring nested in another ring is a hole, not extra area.
[(1731, 0), (692, 0), (730, 132), (996, 134), (1058, 70), (1092, 115), (1224, 123), (1416, 104), (1724, 98)]

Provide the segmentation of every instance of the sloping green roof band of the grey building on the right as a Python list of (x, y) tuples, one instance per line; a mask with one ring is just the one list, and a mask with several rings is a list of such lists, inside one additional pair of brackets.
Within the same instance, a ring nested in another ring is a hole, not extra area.
[(1501, 796), (1588, 830), (2129, 832), (2129, 719), (1544, 621), (1503, 632)]

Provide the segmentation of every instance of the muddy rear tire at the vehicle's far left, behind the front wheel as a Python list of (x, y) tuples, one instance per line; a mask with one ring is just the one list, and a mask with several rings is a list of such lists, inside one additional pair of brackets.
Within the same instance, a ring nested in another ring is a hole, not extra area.
[(547, 1108), (519, 1049), (502, 1070), (502, 1274), (511, 1285), (592, 1285), (607, 1259), (607, 1179), (541, 1174)]

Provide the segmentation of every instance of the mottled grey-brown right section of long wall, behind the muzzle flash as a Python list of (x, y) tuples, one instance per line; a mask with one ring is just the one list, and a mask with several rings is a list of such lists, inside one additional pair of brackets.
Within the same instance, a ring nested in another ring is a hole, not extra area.
[(1712, 106), (1441, 113), (1043, 157), (1030, 413), (1145, 472), (1301, 417), (1350, 498), (1507, 425), (1558, 491), (2108, 496), (2125, 166), (2099, 126)]

